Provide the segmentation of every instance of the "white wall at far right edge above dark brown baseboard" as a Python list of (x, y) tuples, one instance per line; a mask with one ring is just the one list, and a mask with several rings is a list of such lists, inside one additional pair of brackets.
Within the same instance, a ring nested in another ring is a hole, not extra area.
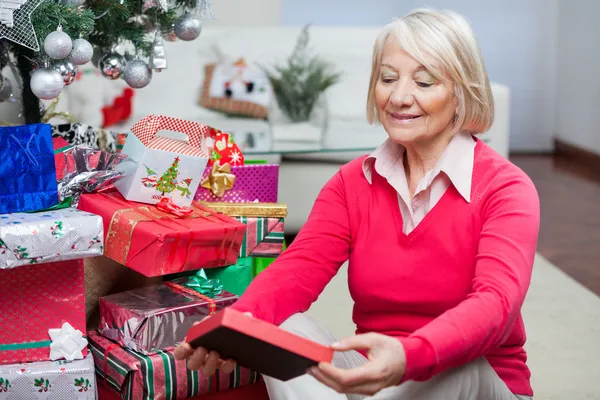
[(556, 136), (600, 154), (600, 2), (562, 1)]

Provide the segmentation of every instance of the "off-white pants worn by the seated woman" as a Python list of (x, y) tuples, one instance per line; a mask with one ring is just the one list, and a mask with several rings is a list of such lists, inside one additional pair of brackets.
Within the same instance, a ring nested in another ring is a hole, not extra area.
[[(296, 314), (281, 328), (323, 345), (337, 341), (327, 329), (305, 314)], [(333, 364), (339, 368), (355, 368), (367, 359), (356, 351), (336, 352)], [(339, 394), (310, 375), (282, 382), (264, 377), (271, 400), (358, 400), (360, 395)], [(426, 382), (408, 381), (368, 397), (369, 400), (526, 400), (515, 396), (484, 358), (463, 367), (436, 375)]]

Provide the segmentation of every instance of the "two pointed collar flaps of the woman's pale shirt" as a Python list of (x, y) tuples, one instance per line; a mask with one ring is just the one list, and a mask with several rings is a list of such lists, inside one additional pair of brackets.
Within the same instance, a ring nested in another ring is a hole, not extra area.
[[(438, 160), (432, 178), (444, 172), (458, 193), (467, 201), (471, 201), (471, 185), (476, 141), (469, 133), (455, 134)], [(404, 171), (397, 167), (404, 158), (404, 146), (387, 139), (375, 149), (362, 164), (363, 174), (369, 184), (373, 183), (373, 170), (383, 177), (389, 177), (395, 171)]]

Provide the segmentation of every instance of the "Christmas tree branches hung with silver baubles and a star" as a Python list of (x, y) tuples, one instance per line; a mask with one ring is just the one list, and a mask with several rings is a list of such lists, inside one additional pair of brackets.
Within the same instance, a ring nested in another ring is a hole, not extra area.
[(20, 90), (25, 122), (40, 122), (40, 99), (56, 98), (89, 61), (107, 79), (144, 87), (166, 68), (163, 38), (194, 40), (212, 18), (210, 0), (0, 1), (0, 68), (17, 80), (0, 74), (0, 102)]

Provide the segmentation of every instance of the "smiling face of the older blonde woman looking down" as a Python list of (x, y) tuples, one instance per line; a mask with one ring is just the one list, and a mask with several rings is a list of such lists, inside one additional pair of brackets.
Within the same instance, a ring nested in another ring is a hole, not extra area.
[(454, 84), (434, 78), (394, 38), (383, 49), (375, 102), (389, 137), (403, 145), (449, 132), (457, 106)]

